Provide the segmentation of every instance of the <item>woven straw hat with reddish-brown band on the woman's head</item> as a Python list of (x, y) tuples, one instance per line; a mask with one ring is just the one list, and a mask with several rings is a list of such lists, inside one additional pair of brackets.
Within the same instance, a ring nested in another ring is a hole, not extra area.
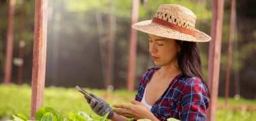
[(148, 34), (191, 42), (208, 42), (211, 37), (195, 29), (195, 14), (181, 5), (160, 5), (154, 18), (133, 24)]

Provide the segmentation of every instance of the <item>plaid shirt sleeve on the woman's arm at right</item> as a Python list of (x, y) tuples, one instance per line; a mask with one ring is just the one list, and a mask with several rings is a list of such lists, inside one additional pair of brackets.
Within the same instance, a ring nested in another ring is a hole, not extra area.
[(205, 120), (205, 112), (209, 106), (205, 85), (197, 78), (191, 79), (182, 93), (179, 112), (181, 120)]

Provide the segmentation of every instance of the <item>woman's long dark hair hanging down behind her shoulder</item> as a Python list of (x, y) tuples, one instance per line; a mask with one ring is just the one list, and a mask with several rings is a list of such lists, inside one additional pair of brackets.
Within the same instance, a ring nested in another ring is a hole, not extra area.
[(178, 63), (184, 75), (197, 77), (207, 88), (207, 96), (210, 97), (210, 90), (205, 82), (201, 71), (201, 59), (199, 49), (195, 42), (175, 40), (181, 46), (178, 54)]

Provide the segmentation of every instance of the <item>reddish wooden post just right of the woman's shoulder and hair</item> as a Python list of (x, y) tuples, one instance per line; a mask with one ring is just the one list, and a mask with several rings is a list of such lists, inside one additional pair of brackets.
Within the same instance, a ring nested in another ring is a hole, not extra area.
[(213, 0), (212, 3), (212, 25), (208, 60), (208, 85), (210, 87), (210, 107), (206, 115), (210, 121), (216, 120), (218, 86), (220, 75), (220, 54), (222, 42), (222, 22), (223, 22), (224, 0)]

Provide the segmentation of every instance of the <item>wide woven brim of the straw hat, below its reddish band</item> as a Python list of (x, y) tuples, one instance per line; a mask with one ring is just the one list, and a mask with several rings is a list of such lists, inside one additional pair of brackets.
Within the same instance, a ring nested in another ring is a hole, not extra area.
[(189, 34), (172, 30), (166, 26), (156, 24), (152, 22), (151, 19), (133, 24), (132, 28), (148, 34), (153, 34), (164, 38), (172, 38), (175, 40), (184, 40), (190, 42), (208, 42), (211, 40), (210, 36), (199, 30), (195, 29), (195, 36), (191, 36)]

